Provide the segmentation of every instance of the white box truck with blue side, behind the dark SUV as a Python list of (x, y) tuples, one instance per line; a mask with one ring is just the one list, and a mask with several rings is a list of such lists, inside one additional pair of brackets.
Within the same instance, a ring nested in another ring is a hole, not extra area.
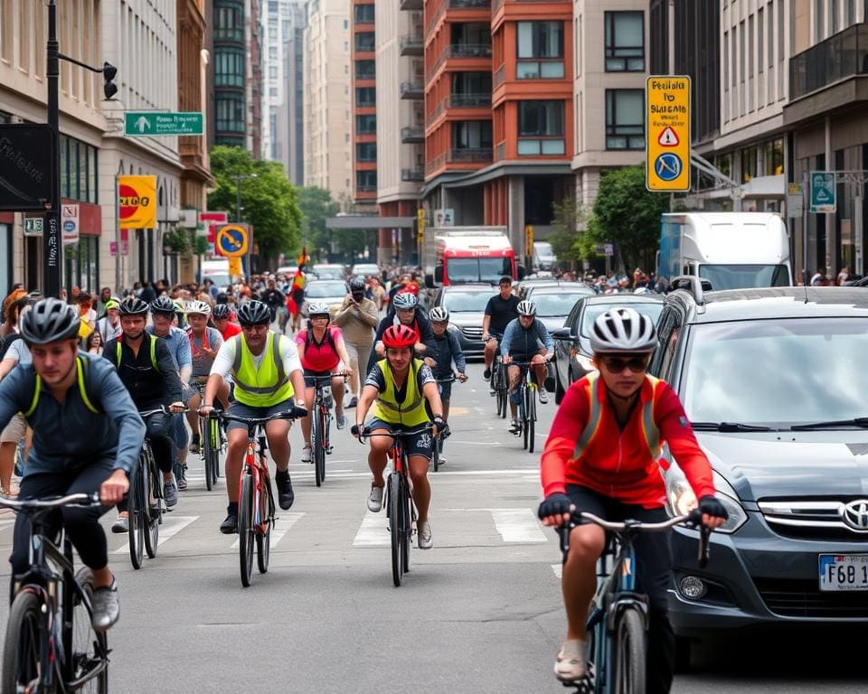
[(661, 215), (656, 275), (702, 277), (712, 289), (792, 286), (787, 227), (772, 212)]

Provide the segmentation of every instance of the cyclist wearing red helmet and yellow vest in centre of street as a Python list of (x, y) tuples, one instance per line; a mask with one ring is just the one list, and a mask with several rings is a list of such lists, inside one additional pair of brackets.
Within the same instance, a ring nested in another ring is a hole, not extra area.
[[(396, 295), (396, 298), (401, 295)], [(418, 336), (408, 325), (391, 325), (382, 334), (386, 348), (386, 358), (378, 361), (364, 382), (362, 398), (355, 410), (354, 436), (363, 433), (364, 417), (373, 405), (373, 418), (368, 428), (373, 433), (383, 433), (389, 427), (414, 429), (433, 421), (433, 436), (446, 428), (443, 408), (437, 391), (437, 383), (431, 370), (423, 361), (413, 358), (413, 348)], [(425, 401), (428, 401), (433, 417), (429, 418)], [(428, 511), (431, 501), (431, 488), (428, 482), (428, 465), (431, 460), (431, 434), (423, 432), (406, 441), (410, 459), (410, 483), (413, 489), (413, 502), (419, 510), (419, 549), (431, 549), (431, 524)], [(386, 466), (386, 452), (392, 446), (389, 436), (372, 436), (368, 466), (373, 474), (371, 492), (368, 495), (368, 510), (376, 513), (382, 509), (382, 490), (385, 480), (382, 471)]]

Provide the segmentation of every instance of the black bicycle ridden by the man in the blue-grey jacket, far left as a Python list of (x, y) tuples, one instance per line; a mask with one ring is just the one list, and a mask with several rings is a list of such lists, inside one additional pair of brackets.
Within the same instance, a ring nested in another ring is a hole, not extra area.
[(73, 572), (72, 543), (62, 532), (54, 544), (45, 521), (69, 504), (99, 506), (99, 493), (56, 499), (10, 501), (0, 506), (30, 516), (30, 568), (16, 577), (6, 623), (0, 691), (54, 692), (109, 690), (109, 645), (90, 625), (93, 577), (88, 567)]

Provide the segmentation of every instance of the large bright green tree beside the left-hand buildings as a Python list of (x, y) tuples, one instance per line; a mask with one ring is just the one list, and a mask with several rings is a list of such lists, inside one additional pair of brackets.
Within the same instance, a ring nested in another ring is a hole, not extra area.
[[(297, 253), (301, 210), (282, 164), (255, 160), (241, 147), (217, 145), (211, 150), (211, 173), (217, 188), (208, 195), (209, 209), (230, 211), (234, 219), (241, 187), (241, 218), (253, 227), (263, 265), (273, 265), (280, 253)], [(234, 178), (238, 175), (246, 178)]]

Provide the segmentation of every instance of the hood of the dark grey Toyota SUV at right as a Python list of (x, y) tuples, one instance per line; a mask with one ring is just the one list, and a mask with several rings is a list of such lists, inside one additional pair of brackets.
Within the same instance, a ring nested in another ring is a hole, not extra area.
[(697, 432), (741, 501), (868, 493), (868, 431)]

